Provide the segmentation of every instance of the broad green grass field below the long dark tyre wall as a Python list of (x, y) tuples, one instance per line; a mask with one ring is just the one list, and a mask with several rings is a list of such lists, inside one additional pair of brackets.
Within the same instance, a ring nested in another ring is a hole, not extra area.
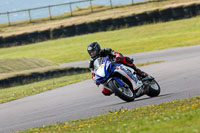
[(43, 58), (57, 63), (86, 60), (86, 48), (92, 41), (122, 54), (196, 45), (200, 42), (200, 17), (2, 48), (0, 58)]

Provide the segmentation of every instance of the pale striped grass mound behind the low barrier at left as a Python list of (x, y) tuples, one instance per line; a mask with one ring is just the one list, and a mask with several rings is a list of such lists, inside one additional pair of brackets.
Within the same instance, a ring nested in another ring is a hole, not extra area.
[(0, 59), (0, 74), (57, 65), (54, 62), (36, 58)]

